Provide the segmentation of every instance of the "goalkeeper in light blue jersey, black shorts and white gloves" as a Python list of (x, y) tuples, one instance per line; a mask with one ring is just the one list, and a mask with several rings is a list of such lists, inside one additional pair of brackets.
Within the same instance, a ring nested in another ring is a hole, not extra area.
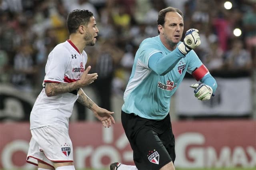
[(158, 14), (158, 33), (140, 44), (124, 92), (122, 125), (133, 150), (136, 166), (112, 163), (110, 170), (175, 170), (174, 135), (170, 99), (188, 72), (200, 83), (190, 87), (199, 100), (216, 91), (216, 80), (200, 61), (194, 48), (200, 45), (198, 30), (186, 32), (183, 14), (168, 7)]

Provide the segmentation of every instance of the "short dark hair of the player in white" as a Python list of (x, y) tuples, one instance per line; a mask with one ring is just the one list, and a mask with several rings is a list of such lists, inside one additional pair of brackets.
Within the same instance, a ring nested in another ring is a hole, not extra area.
[(67, 26), (69, 34), (75, 33), (79, 26), (87, 26), (93, 13), (89, 10), (73, 10), (68, 14)]

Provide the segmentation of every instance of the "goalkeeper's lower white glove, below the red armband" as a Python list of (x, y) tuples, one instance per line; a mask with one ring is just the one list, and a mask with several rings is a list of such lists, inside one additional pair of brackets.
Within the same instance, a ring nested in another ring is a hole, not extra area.
[(204, 83), (194, 83), (190, 85), (190, 87), (194, 88), (195, 97), (198, 100), (204, 101), (209, 100), (213, 95), (212, 87), (204, 84)]

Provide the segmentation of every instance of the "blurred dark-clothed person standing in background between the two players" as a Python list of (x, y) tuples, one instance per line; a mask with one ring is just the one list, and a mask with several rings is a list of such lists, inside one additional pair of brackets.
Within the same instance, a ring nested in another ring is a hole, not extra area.
[(100, 47), (98, 46), (98, 53), (94, 53), (91, 58), (93, 71), (99, 75), (98, 79), (92, 84), (92, 87), (99, 98), (99, 106), (107, 110), (112, 110), (112, 81), (116, 67), (124, 55), (124, 51), (119, 49), (115, 43), (115, 37), (102, 40), (99, 43)]

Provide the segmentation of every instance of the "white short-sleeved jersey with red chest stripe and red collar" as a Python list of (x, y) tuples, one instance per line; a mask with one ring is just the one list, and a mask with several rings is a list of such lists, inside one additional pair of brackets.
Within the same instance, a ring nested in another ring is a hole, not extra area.
[[(70, 40), (60, 43), (48, 55), (44, 83), (71, 83), (77, 81), (85, 70), (86, 62), (86, 52), (83, 51), (80, 54), (77, 47)], [(43, 88), (30, 114), (30, 129), (47, 125), (65, 125), (68, 128), (68, 120), (77, 99), (78, 95), (73, 93), (62, 93), (48, 97)]]

